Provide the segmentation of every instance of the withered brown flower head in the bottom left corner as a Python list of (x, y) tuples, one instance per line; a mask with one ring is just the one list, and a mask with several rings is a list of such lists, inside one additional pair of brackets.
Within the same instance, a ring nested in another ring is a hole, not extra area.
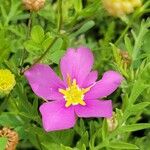
[(18, 133), (4, 127), (0, 130), (0, 137), (7, 138), (7, 144), (5, 150), (15, 150), (19, 141)]

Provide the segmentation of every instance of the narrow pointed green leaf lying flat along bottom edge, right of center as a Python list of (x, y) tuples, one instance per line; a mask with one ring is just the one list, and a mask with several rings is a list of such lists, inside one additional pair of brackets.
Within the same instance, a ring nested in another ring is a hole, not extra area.
[(110, 142), (108, 147), (113, 149), (139, 149), (136, 145), (125, 142)]

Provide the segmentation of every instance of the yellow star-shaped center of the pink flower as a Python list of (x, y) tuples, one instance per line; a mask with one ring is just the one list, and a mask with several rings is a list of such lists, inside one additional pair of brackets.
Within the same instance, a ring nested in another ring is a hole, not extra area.
[(77, 85), (76, 79), (73, 79), (71, 82), (70, 77), (67, 78), (68, 88), (66, 89), (59, 89), (59, 92), (64, 95), (66, 101), (66, 107), (70, 105), (83, 105), (85, 106), (86, 103), (84, 102), (84, 94), (87, 93), (91, 87), (88, 88), (79, 88)]

